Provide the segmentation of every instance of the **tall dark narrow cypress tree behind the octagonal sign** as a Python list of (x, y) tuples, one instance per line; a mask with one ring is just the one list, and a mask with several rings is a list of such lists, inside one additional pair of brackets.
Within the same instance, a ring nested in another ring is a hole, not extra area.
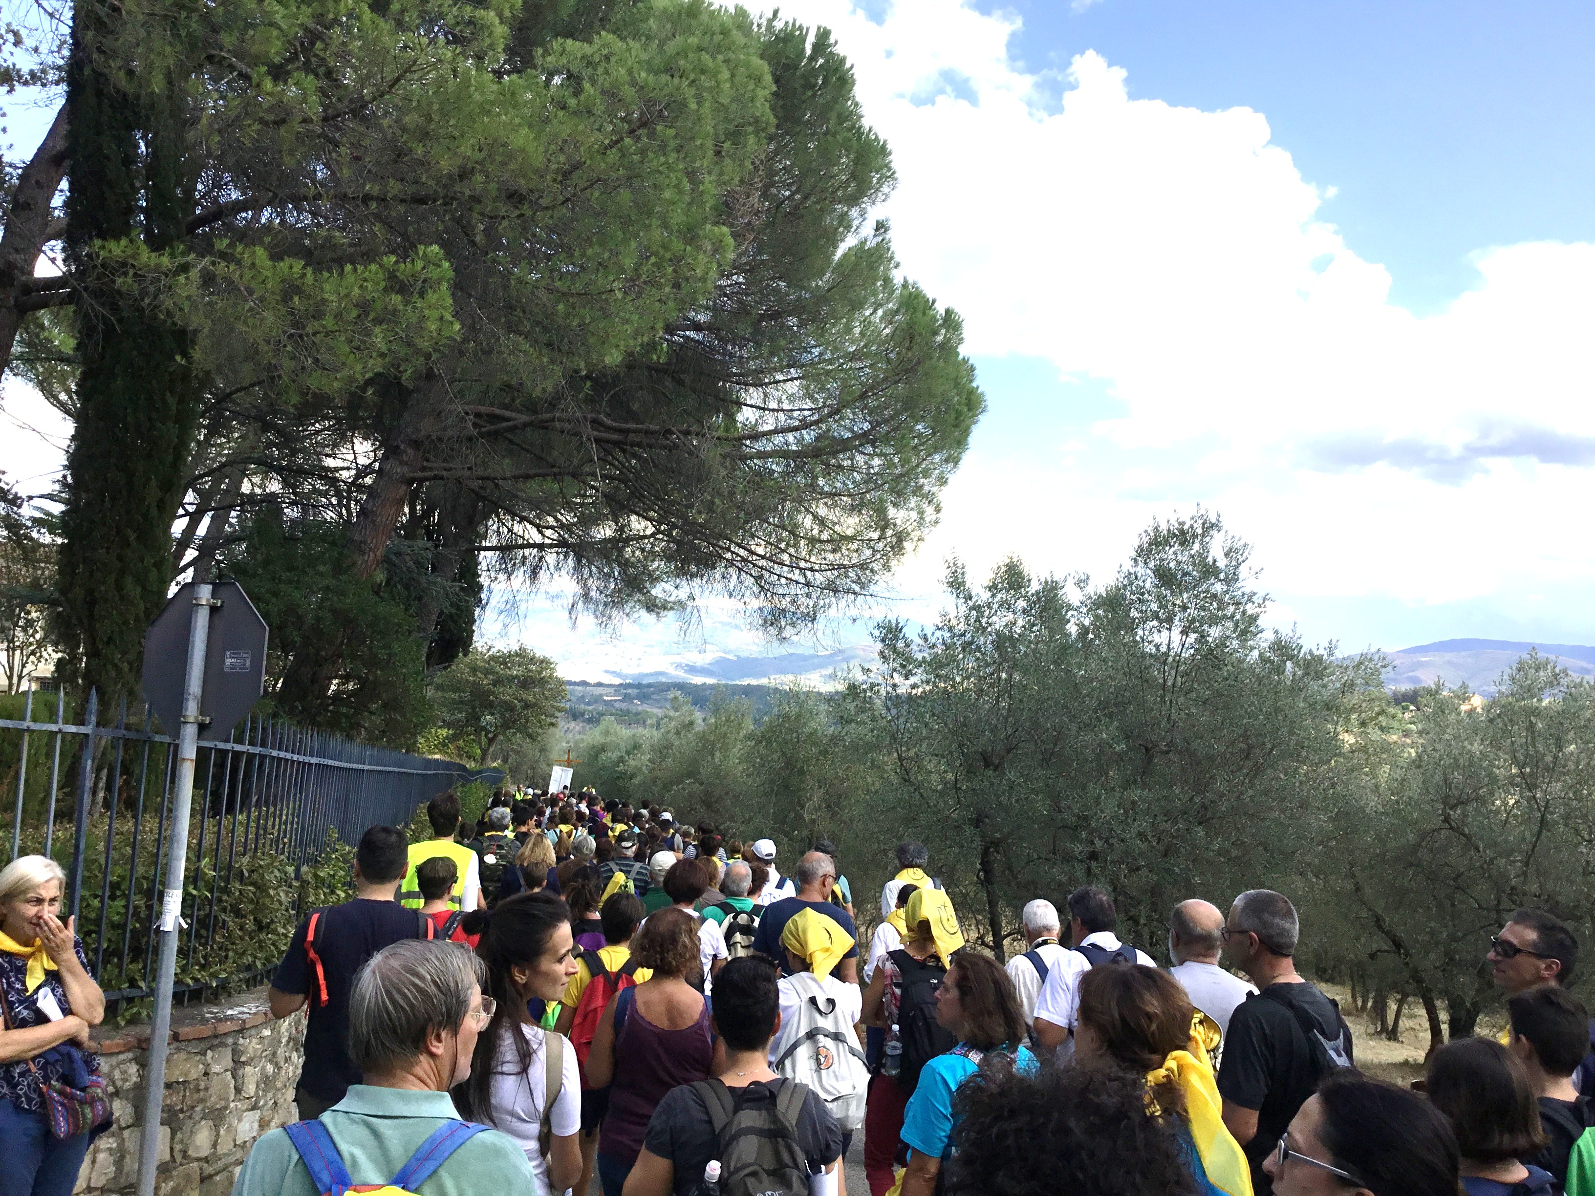
[(67, 263), (78, 287), (77, 426), (67, 453), (61, 641), (70, 679), (100, 710), (131, 697), (144, 630), (171, 579), (172, 518), (199, 386), (190, 336), (120, 285), (104, 242), (182, 236), (180, 89), (136, 94), (115, 61), (123, 10), (78, 0), (67, 72)]

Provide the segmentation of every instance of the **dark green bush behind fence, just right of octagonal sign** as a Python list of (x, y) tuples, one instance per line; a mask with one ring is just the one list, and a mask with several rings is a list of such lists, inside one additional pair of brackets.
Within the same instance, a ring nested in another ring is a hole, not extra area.
[[(349, 572), (335, 526), (262, 515), (226, 561), (271, 627), (266, 698), (319, 730), (410, 748), (431, 722), (407, 596)], [(311, 662), (311, 663), (306, 663)]]

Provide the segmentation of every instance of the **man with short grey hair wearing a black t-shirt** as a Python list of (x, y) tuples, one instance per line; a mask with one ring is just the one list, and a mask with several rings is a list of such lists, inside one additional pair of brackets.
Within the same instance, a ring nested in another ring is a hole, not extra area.
[(1252, 1164), (1252, 1190), (1273, 1193), (1263, 1159), (1325, 1075), (1351, 1067), (1340, 1008), (1295, 970), (1295, 906), (1268, 888), (1241, 893), (1219, 931), (1230, 962), (1257, 984), (1230, 1016), (1219, 1067), (1223, 1124)]

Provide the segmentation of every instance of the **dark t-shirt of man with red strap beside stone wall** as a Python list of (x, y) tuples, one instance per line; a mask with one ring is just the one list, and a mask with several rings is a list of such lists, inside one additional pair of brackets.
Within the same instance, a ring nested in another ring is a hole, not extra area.
[(413, 909), (397, 901), (356, 898), (322, 911), (316, 923), (316, 955), (327, 976), (327, 1005), (321, 1003), (321, 984), (305, 954), (305, 930), (300, 922), (289, 942), (287, 955), (271, 978), (278, 992), (309, 998), (309, 1025), (305, 1027), (305, 1067), (300, 1084), (321, 1100), (343, 1100), (349, 1084), (360, 1083), (360, 1070), (349, 1060), (349, 990), (354, 973), (372, 955), (400, 939), (424, 938)]

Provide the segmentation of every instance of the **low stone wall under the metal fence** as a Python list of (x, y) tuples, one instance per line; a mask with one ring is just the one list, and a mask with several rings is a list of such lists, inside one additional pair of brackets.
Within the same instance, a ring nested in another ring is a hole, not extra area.
[[(150, 1027), (102, 1030), (96, 1051), (115, 1126), (83, 1161), (75, 1193), (132, 1193)], [(305, 1017), (273, 1021), (265, 989), (219, 1005), (172, 1009), (161, 1113), (158, 1196), (226, 1196), (255, 1139), (295, 1119)]]

